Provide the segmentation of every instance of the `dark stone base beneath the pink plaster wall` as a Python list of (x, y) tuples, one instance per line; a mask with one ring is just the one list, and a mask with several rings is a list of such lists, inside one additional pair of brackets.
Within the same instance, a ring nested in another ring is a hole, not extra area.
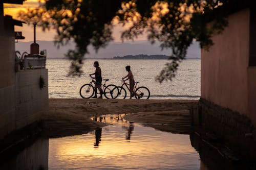
[(244, 158), (255, 158), (256, 129), (249, 117), (202, 98), (199, 101), (199, 108), (199, 114), (194, 116), (200, 118), (200, 129), (214, 133), (228, 148)]

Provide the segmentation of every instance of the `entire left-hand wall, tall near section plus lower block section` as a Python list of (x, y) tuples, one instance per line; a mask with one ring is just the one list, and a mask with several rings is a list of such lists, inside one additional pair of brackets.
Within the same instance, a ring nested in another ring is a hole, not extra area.
[[(40, 120), (41, 111), (48, 109), (48, 70), (22, 70), (15, 73), (14, 26), (13, 23), (4, 22), (3, 16), (0, 16), (0, 26), (1, 140), (7, 134)], [(40, 75), (45, 78), (44, 89), (39, 88)]]

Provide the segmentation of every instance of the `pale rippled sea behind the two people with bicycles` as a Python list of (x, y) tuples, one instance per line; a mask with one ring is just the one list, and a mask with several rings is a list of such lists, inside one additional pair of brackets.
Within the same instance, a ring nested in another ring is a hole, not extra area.
[[(95, 71), (93, 62), (84, 60), (80, 78), (67, 77), (70, 61), (64, 59), (47, 60), (49, 74), (49, 98), (81, 98), (79, 89), (91, 81), (89, 74)], [(126, 65), (131, 65), (135, 81), (151, 91), (150, 99), (192, 99), (200, 98), (201, 60), (184, 60), (172, 82), (160, 84), (155, 77), (167, 60), (98, 60), (102, 78), (110, 79), (108, 84), (121, 85), (121, 78), (127, 75)]]

